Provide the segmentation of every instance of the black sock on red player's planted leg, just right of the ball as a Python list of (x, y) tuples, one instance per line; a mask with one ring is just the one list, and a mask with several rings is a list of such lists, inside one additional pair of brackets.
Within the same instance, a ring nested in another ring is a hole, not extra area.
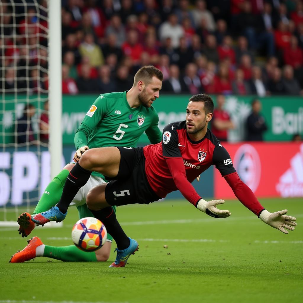
[(107, 232), (115, 239), (119, 250), (128, 248), (130, 244), (128, 236), (125, 235), (125, 232), (117, 221), (116, 213), (112, 207), (105, 207), (101, 210), (90, 209), (90, 211), (95, 218), (102, 221), (105, 225)]

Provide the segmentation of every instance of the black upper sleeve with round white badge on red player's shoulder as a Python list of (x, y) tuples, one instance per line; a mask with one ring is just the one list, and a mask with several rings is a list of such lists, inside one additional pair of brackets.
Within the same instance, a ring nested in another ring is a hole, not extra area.
[(164, 158), (182, 158), (178, 147), (178, 132), (172, 124), (168, 124), (162, 133), (162, 156)]

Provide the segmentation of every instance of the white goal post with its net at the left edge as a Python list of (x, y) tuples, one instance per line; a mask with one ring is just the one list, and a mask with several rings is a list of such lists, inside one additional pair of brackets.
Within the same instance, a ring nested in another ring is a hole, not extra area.
[[(0, 226), (15, 227), (62, 170), (61, 0), (0, 0), (0, 31)], [(48, 143), (40, 129), (47, 100)]]

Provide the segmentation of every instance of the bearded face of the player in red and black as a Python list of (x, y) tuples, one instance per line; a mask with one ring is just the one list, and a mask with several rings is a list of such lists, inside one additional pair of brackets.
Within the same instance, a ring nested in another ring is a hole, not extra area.
[(186, 131), (188, 134), (196, 134), (205, 127), (210, 120), (209, 115), (205, 115), (204, 102), (190, 101), (186, 108)]

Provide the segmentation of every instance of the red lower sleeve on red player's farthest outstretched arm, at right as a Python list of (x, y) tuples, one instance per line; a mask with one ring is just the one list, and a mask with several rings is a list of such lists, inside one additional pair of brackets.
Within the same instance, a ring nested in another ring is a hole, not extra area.
[(251, 189), (240, 179), (239, 175), (234, 172), (224, 176), (224, 178), (238, 200), (255, 215), (259, 216), (265, 208), (258, 201)]

